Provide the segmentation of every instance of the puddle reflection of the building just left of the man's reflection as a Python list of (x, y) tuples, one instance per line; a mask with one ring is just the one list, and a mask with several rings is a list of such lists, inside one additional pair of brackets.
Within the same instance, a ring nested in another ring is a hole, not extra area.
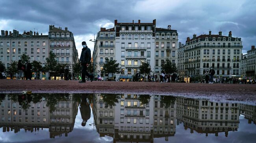
[(68, 136), (68, 133), (73, 130), (78, 112), (78, 102), (72, 98), (73, 95), (70, 94), (66, 101), (59, 101), (55, 106), (56, 110), (50, 113), (50, 138), (62, 136), (62, 134)]

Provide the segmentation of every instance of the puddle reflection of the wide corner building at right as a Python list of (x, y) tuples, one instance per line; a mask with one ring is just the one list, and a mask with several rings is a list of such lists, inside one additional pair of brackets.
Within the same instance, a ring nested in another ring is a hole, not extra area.
[[(177, 119), (184, 122), (184, 128), (198, 133), (215, 134), (237, 131), (239, 104), (216, 103), (208, 100), (177, 98)], [(178, 122), (178, 121), (177, 121)]]

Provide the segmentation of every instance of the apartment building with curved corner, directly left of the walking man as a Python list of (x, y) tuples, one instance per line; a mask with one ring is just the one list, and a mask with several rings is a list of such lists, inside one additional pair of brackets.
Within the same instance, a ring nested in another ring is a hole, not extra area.
[[(71, 72), (71, 79), (73, 77), (73, 66), (78, 63), (78, 51), (76, 49), (76, 43), (74, 41), (74, 35), (72, 32), (68, 31), (65, 27), (63, 30), (61, 27), (54, 27), (54, 25), (49, 25), (49, 49), (56, 55), (56, 60), (58, 63), (67, 64), (67, 68)], [(54, 80), (61, 79), (59, 73), (51, 74), (50, 77)]]

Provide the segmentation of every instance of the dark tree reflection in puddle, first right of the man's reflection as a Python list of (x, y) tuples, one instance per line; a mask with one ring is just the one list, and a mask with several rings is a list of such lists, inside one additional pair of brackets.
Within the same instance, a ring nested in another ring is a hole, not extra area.
[(100, 94), (102, 96), (102, 100), (105, 102), (106, 107), (113, 107), (115, 103), (119, 103), (119, 99), (121, 98), (120, 94)]

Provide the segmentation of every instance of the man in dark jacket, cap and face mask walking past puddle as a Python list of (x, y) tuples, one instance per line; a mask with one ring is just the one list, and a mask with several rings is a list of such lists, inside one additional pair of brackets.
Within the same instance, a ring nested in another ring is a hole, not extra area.
[(82, 80), (79, 81), (80, 83), (84, 83), (86, 81), (85, 76), (91, 78), (91, 81), (93, 81), (93, 74), (89, 74), (87, 72), (87, 67), (88, 67), (89, 63), (91, 62), (91, 50), (87, 47), (85, 41), (82, 42), (82, 46), (83, 46), (83, 49), (82, 49), (81, 56), (79, 59), (81, 66), (82, 66)]

